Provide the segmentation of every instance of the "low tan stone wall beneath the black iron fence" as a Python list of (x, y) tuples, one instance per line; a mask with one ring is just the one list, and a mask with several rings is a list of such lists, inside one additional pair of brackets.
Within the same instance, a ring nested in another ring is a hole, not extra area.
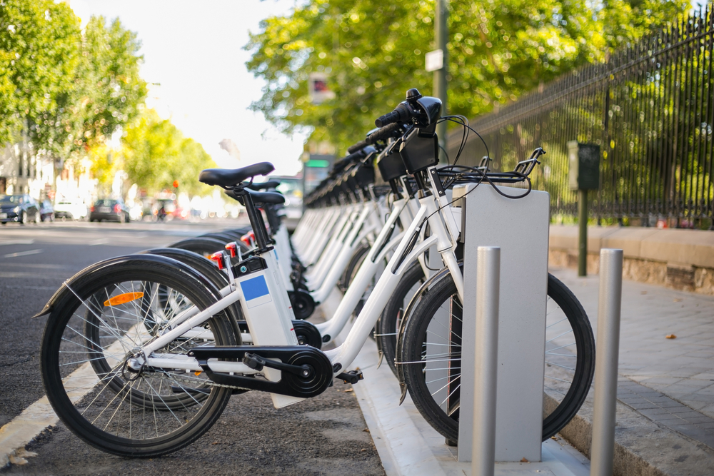
[[(621, 248), (623, 278), (714, 295), (714, 231), (588, 228), (588, 274), (599, 270), (600, 248)], [(550, 226), (548, 264), (578, 267), (578, 227)]]

